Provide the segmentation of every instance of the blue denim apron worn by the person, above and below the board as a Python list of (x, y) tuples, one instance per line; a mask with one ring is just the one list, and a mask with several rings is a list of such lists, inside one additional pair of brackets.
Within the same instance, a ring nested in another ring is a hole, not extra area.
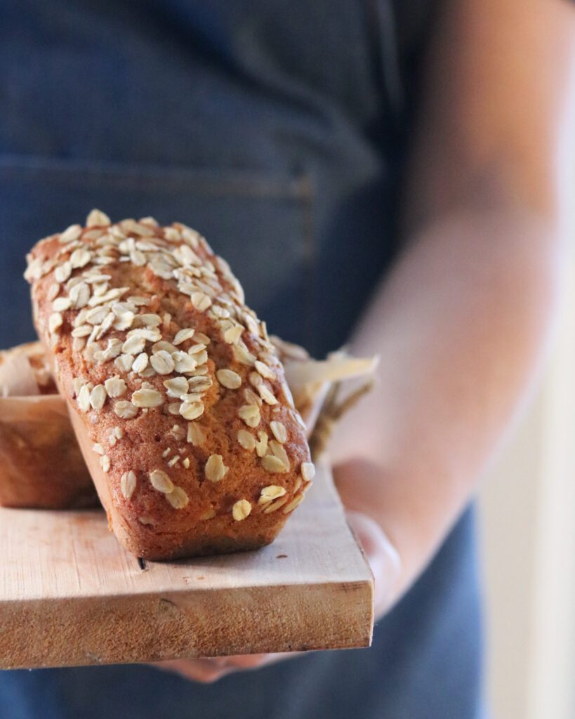
[[(206, 235), (270, 330), (321, 356), (397, 250), (430, 7), (403, 0), (0, 0), (0, 346), (33, 337), (24, 253), (152, 214)], [(195, 684), (145, 666), (0, 672), (2, 719), (471, 719), (473, 512), (370, 649)]]

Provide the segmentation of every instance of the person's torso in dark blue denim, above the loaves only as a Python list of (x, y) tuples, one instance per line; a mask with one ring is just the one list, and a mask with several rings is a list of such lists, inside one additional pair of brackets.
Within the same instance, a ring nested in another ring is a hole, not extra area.
[(97, 206), (194, 226), (272, 331), (335, 349), (395, 249), (415, 9), (1, 2), (0, 301), (26, 306), (24, 252)]

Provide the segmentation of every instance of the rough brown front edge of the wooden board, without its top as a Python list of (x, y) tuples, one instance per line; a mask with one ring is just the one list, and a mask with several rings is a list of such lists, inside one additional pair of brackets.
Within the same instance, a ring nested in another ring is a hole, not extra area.
[(0, 669), (351, 649), (372, 631), (369, 581), (7, 602)]

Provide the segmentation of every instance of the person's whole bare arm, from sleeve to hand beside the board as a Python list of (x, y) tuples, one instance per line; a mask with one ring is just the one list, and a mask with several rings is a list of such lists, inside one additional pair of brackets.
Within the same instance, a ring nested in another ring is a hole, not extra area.
[(451, 0), (431, 47), (408, 245), (352, 342), (380, 354), (379, 383), (333, 443), (344, 503), (399, 552), (390, 601), (469, 500), (546, 345), (575, 193), (574, 15)]

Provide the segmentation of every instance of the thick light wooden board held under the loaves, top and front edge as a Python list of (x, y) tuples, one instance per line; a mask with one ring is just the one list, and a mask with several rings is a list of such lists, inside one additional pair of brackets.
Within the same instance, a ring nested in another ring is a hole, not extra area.
[(0, 669), (369, 646), (373, 577), (326, 467), (257, 551), (139, 562), (103, 512), (0, 508)]

